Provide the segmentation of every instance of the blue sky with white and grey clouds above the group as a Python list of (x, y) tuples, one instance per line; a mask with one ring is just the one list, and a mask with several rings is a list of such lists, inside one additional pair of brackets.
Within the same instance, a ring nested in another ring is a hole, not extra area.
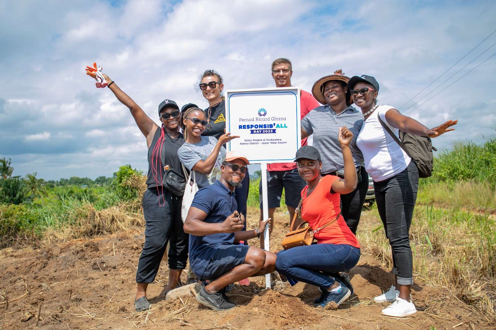
[(496, 33), (401, 108), (496, 29), (494, 1), (0, 0), (0, 12), (0, 158), (14, 175), (147, 168), (129, 111), (85, 75), (93, 61), (155, 120), (166, 98), (207, 107), (195, 90), (205, 69), (227, 89), (272, 87), (270, 63), (288, 57), (307, 91), (341, 68), (375, 76), (379, 103), (427, 126), (459, 119), (438, 148), (495, 135), (496, 56), (472, 69), (496, 53)]

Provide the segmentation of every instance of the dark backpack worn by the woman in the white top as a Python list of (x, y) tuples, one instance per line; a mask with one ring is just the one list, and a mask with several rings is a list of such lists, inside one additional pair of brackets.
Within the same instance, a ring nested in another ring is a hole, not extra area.
[(437, 151), (433, 147), (431, 138), (427, 136), (419, 136), (414, 134), (405, 133), (399, 131), (399, 138), (393, 134), (391, 129), (382, 121), (379, 115), (379, 122), (384, 127), (384, 129), (392, 136), (394, 141), (396, 141), (401, 149), (413, 160), (415, 165), (419, 169), (419, 177), (425, 178), (433, 175), (433, 150)]

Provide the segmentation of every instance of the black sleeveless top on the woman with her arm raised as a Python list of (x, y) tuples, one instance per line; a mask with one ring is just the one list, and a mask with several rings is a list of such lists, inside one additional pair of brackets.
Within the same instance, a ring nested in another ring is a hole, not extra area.
[[(146, 185), (148, 188), (160, 186), (161, 183), (157, 184), (155, 178), (152, 173), (152, 153), (153, 148), (157, 144), (157, 141), (160, 139), (160, 135), (162, 133), (162, 129), (159, 127), (153, 136), (152, 144), (150, 148), (148, 148), (148, 177), (146, 178)], [(179, 136), (176, 138), (171, 138), (167, 131), (165, 131), (165, 140), (162, 145), (161, 157), (159, 157), (157, 164), (157, 180), (160, 181), (160, 173), (162, 173), (162, 178), (165, 179), (165, 170), (164, 165), (169, 165), (169, 167), (174, 168), (181, 175), (185, 175), (183, 173), (183, 168), (181, 166), (181, 162), (178, 157), (178, 149), (185, 143), (185, 137), (183, 134), (179, 133)], [(162, 164), (162, 159), (165, 160), (165, 164)], [(155, 162), (156, 160), (153, 160)]]

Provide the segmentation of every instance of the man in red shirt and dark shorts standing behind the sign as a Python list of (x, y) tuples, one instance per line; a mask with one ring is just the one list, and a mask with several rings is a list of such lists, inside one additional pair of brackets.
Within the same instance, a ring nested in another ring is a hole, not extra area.
[[(291, 61), (287, 58), (278, 58), (272, 62), (272, 78), (276, 83), (276, 87), (291, 87), (291, 76), (293, 68)], [(301, 119), (305, 117), (310, 110), (320, 106), (313, 96), (304, 90), (300, 95)], [(302, 140), (302, 146), (307, 145), (307, 139)], [(274, 211), (281, 206), (281, 195), (284, 188), (286, 197), (286, 206), (289, 211), (289, 220), (293, 219), (295, 209), (301, 199), (301, 191), (306, 183), (298, 174), (296, 163), (274, 163), (267, 165), (267, 192), (269, 218), (271, 226), (274, 228)], [(262, 210), (262, 182), (259, 186), (260, 192), (260, 220), (263, 219)]]

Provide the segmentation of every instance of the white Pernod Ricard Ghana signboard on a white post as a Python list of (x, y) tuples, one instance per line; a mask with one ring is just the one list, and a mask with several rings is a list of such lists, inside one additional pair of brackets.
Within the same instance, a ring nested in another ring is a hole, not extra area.
[[(301, 146), (300, 88), (226, 91), (226, 132), (240, 136), (228, 142), (228, 151), (241, 151), (250, 164), (260, 164), (263, 219), (267, 219), (267, 164), (293, 162)], [(270, 248), (268, 226), (264, 247)], [(270, 274), (265, 275), (265, 287), (270, 288)]]

